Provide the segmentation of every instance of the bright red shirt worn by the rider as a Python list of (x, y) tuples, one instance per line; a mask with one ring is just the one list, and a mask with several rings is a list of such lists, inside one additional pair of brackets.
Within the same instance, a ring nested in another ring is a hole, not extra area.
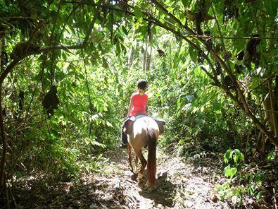
[(140, 95), (139, 92), (134, 92), (130, 99), (133, 104), (131, 116), (146, 114), (146, 102), (148, 102), (148, 96), (146, 94)]

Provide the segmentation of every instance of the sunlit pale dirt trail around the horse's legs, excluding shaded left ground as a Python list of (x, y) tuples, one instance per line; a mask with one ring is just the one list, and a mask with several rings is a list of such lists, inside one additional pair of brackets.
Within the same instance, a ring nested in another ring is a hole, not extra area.
[(90, 208), (230, 208), (213, 193), (219, 172), (215, 160), (185, 163), (175, 156), (158, 149), (158, 189), (146, 193), (132, 180), (125, 150), (106, 153), (106, 174), (84, 177), (84, 186), (94, 184), (95, 204)]

